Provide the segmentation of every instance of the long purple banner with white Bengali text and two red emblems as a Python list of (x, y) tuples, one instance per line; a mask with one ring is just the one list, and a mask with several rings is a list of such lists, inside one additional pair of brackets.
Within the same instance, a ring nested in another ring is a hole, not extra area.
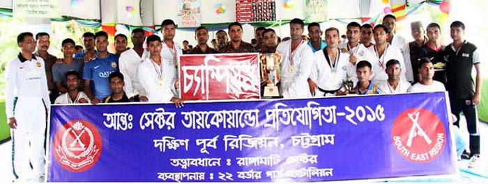
[(52, 106), (48, 181), (455, 174), (445, 93)]

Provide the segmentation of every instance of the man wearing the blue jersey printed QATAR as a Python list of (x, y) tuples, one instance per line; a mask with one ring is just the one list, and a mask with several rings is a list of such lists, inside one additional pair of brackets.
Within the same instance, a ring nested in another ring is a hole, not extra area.
[[(94, 60), (86, 63), (83, 69), (83, 89), (92, 104), (112, 94), (109, 87), (109, 75), (119, 71), (119, 58), (107, 51), (108, 35), (104, 31), (95, 34), (95, 45), (98, 53)], [(93, 89), (90, 88), (93, 81)]]

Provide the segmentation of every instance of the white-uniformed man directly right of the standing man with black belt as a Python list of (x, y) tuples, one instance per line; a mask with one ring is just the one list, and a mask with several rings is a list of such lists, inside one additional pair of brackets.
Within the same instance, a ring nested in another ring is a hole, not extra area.
[(342, 52), (349, 53), (349, 61), (352, 65), (356, 66), (356, 62), (360, 60), (373, 60), (374, 56), (369, 52), (369, 50), (360, 44), (360, 31), (361, 26), (357, 22), (351, 22), (347, 24), (347, 40), (348, 42), (339, 44), (339, 49)]

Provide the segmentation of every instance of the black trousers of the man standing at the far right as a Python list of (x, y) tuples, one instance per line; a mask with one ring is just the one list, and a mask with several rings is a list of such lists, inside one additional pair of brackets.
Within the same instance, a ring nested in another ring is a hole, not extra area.
[(469, 150), (471, 150), (471, 156), (480, 153), (480, 132), (478, 131), (478, 110), (476, 106), (473, 105), (471, 99), (449, 97), (451, 112), (457, 117), (457, 122), (455, 126), (459, 127), (459, 114), (463, 112), (464, 117), (466, 117), (466, 123), (469, 132)]

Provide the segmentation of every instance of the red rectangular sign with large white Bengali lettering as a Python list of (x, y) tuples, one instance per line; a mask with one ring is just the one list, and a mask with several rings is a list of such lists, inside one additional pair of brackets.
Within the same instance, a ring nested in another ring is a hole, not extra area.
[(180, 56), (183, 100), (259, 99), (258, 53)]

